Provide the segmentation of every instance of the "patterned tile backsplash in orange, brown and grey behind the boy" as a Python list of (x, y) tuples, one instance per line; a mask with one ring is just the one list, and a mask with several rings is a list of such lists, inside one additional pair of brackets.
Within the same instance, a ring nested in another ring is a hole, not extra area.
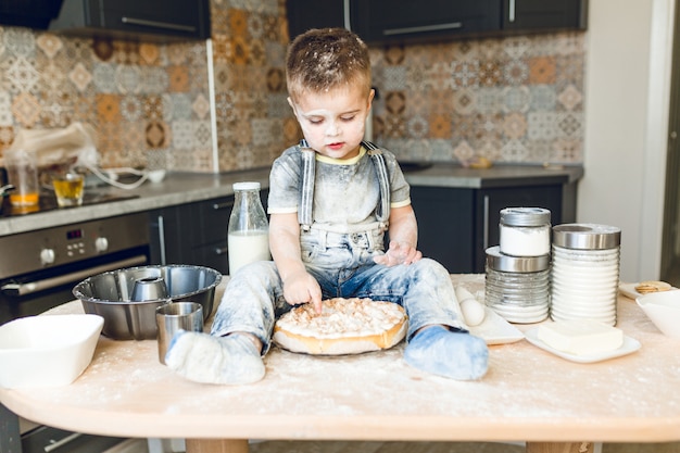
[[(268, 165), (300, 135), (285, 15), (285, 0), (213, 0), (211, 46), (0, 27), (0, 154), (21, 129), (84, 122), (103, 167)], [(582, 163), (583, 33), (372, 48), (372, 61), (373, 138), (404, 160)]]

